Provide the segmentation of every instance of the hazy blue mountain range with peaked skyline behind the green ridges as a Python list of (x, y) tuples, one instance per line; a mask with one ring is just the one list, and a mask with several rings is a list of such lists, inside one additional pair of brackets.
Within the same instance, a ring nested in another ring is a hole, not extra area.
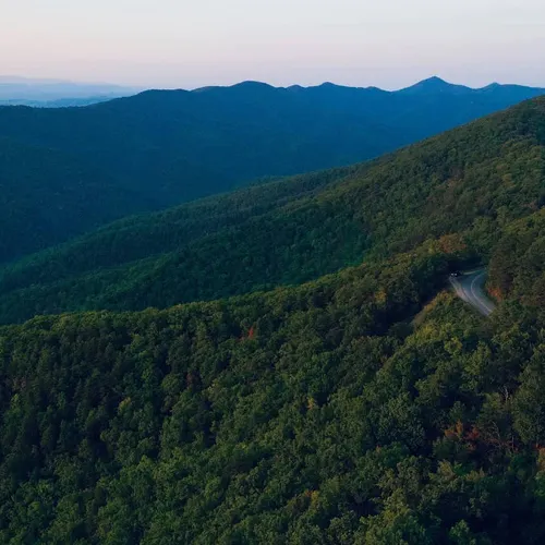
[[(483, 89), (452, 86), (437, 80), (401, 92), (318, 87), (275, 88), (246, 82), (233, 87), (195, 92), (146, 92), (85, 108), (33, 109), (0, 107), (0, 137), (14, 145), (56, 154), (58, 181), (44, 178), (44, 192), (55, 196), (65, 239), (88, 231), (97, 218), (165, 208), (211, 195), (265, 175), (284, 175), (350, 165), (506, 108), (543, 89), (493, 85)], [(0, 162), (2, 155), (0, 149)], [(71, 213), (74, 161), (96, 172), (94, 184), (125, 192), (122, 206), (80, 203)], [(10, 210), (47, 206), (24, 190), (22, 164), (8, 183), (23, 187)], [(112, 185), (110, 187), (110, 185)], [(59, 190), (61, 187), (61, 190)], [(11, 211), (10, 211), (11, 214)], [(0, 216), (8, 211), (0, 209)], [(0, 262), (21, 255), (22, 247), (40, 250), (59, 242), (36, 237), (51, 227), (28, 230), (4, 227)]]

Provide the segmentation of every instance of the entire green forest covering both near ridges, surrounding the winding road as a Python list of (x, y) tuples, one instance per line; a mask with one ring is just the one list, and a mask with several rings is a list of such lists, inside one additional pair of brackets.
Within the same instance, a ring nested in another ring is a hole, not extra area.
[(536, 99), (4, 267), (0, 542), (543, 543), (544, 205)]

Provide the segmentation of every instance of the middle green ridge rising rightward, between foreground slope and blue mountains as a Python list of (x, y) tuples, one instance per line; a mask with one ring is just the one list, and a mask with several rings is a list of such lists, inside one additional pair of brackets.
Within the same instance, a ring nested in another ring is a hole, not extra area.
[(347, 169), (112, 223), (0, 270), (0, 320), (300, 283), (463, 233), (487, 259), (545, 202), (545, 99)]

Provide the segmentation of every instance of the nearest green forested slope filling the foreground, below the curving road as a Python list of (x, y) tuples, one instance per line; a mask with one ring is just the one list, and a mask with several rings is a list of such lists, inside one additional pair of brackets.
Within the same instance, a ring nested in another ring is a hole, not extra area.
[(465, 252), (0, 328), (0, 541), (542, 543), (545, 319), (437, 295)]

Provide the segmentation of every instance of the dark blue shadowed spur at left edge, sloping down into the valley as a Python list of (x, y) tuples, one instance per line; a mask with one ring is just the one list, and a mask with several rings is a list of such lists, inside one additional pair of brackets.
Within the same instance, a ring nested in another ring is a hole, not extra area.
[(0, 138), (0, 263), (154, 205), (92, 164)]

